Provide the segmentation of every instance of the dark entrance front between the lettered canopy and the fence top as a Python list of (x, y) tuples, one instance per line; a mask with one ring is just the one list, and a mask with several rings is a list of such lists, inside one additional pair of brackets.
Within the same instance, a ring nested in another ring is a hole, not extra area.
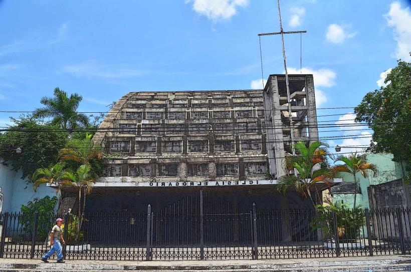
[[(148, 204), (153, 212), (164, 209), (185, 209), (198, 201), (198, 187), (95, 187), (87, 196), (87, 213), (135, 213), (146, 212)], [(273, 186), (259, 186), (258, 189), (243, 187), (202, 187), (204, 212), (250, 212), (253, 203), (257, 210), (307, 209), (308, 199), (302, 199), (295, 192), (287, 197), (278, 193)], [(193, 203), (191, 203), (193, 202)]]

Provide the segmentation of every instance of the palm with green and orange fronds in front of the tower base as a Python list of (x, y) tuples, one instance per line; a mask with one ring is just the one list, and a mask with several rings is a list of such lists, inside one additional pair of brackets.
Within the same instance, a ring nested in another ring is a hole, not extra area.
[[(322, 147), (324, 146), (324, 147)], [(310, 198), (311, 203), (315, 207), (315, 202), (311, 195), (311, 189), (314, 186), (318, 194), (316, 183), (324, 182), (328, 184), (332, 180), (332, 173), (327, 164), (328, 145), (324, 142), (315, 141), (308, 147), (304, 142), (295, 144), (296, 155), (287, 156), (285, 158), (286, 175), (278, 179), (277, 189), (285, 195), (290, 188), (295, 190), (304, 198)], [(293, 169), (296, 169), (298, 174), (290, 174)]]

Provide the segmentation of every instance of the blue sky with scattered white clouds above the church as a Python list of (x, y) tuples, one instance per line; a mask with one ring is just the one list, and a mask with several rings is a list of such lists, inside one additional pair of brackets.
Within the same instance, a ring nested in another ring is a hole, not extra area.
[[(319, 107), (356, 106), (398, 58), (411, 61), (409, 5), (281, 2), (284, 30), (307, 30), (303, 73), (314, 74)], [(106, 111), (131, 91), (250, 89), (261, 85), (257, 34), (278, 30), (274, 0), (0, 0), (0, 110), (31, 111), (55, 87), (82, 95), (81, 111)], [(283, 73), (280, 36), (261, 42), (264, 77)], [(288, 67), (299, 73), (300, 35), (285, 44)], [(0, 123), (16, 115), (0, 113)], [(338, 118), (352, 115), (319, 121)], [(348, 132), (359, 133), (367, 131)], [(369, 139), (344, 141), (332, 144)]]

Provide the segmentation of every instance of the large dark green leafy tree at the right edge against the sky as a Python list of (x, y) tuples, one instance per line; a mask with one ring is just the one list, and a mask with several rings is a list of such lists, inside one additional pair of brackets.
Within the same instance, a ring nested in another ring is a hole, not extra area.
[[(398, 61), (385, 79), (387, 84), (367, 93), (354, 109), (356, 121), (374, 131), (372, 152), (388, 152), (394, 160), (411, 166), (411, 63)], [(405, 171), (403, 170), (403, 176)]]

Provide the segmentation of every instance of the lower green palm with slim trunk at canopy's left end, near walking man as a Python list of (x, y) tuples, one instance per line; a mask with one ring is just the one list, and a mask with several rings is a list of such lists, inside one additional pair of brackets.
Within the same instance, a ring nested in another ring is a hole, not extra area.
[[(63, 187), (73, 187), (78, 191), (79, 194), (79, 224), (78, 233), (80, 233), (80, 228), (84, 220), (84, 214), (86, 211), (86, 195), (90, 194), (95, 179), (92, 175), (91, 166), (88, 164), (80, 165), (75, 172), (66, 171), (62, 176), (60, 182), (58, 183), (57, 189), (62, 189)], [(77, 239), (77, 237), (76, 237)]]

